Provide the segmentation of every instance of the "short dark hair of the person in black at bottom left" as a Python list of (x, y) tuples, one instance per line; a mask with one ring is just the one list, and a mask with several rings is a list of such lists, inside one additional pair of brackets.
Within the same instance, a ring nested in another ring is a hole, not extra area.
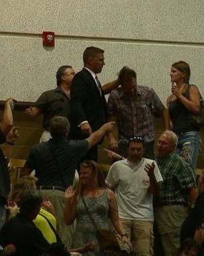
[(37, 189), (28, 189), (21, 195), (19, 202), (20, 213), (25, 215), (33, 213), (43, 202), (43, 197)]

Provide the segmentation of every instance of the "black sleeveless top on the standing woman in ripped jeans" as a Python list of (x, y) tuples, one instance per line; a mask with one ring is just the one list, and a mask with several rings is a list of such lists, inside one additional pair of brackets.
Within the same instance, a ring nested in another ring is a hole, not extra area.
[[(183, 93), (183, 96), (187, 98), (186, 92)], [(169, 115), (173, 123), (172, 131), (175, 133), (199, 130), (199, 127), (191, 125), (189, 120), (189, 111), (184, 107), (179, 99), (169, 102)]]

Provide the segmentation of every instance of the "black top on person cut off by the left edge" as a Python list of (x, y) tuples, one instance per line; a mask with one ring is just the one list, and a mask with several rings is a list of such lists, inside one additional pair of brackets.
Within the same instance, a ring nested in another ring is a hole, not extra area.
[[(5, 135), (3, 135), (0, 129), (0, 144), (5, 142)], [(0, 201), (5, 203), (7, 195), (10, 191), (10, 177), (9, 171), (7, 169), (7, 163), (5, 161), (5, 156), (0, 148)]]

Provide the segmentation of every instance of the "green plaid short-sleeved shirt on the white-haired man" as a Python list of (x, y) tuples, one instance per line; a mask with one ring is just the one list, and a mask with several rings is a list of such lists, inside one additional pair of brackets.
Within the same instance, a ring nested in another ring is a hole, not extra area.
[(157, 160), (157, 165), (163, 178), (160, 187), (159, 202), (188, 203), (189, 193), (185, 189), (196, 187), (195, 173), (183, 158), (171, 153), (163, 159)]

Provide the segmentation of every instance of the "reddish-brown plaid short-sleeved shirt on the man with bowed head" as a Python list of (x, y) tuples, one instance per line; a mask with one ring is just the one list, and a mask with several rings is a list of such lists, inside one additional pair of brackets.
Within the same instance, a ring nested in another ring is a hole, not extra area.
[(108, 115), (117, 119), (120, 143), (127, 143), (135, 135), (144, 137), (146, 142), (153, 141), (153, 112), (162, 109), (159, 97), (147, 86), (138, 85), (134, 95), (126, 94), (122, 87), (118, 87), (108, 98)]

